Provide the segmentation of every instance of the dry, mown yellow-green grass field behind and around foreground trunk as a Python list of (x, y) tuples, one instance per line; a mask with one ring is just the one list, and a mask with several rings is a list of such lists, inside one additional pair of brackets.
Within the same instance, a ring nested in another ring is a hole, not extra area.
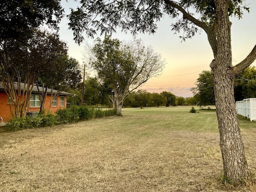
[[(0, 191), (256, 191), (222, 184), (216, 112), (190, 109), (124, 108), (122, 117), (0, 132)], [(255, 174), (256, 122), (240, 126)]]

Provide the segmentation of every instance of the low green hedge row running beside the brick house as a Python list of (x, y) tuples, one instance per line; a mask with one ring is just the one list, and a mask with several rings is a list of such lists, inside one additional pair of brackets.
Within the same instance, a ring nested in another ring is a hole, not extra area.
[(74, 106), (72, 109), (59, 109), (56, 115), (40, 114), (36, 117), (14, 118), (6, 123), (7, 131), (16, 131), (38, 127), (54, 126), (58, 124), (74, 123), (78, 121), (89, 120), (92, 118), (102, 118), (106, 116), (115, 116), (116, 110), (93, 109), (86, 106)]

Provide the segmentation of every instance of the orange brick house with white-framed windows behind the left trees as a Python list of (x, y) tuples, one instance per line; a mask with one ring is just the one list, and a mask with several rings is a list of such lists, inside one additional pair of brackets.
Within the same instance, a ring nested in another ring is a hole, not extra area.
[[(21, 87), (24, 87), (24, 83), (21, 84)], [(14, 83), (14, 88), (17, 90), (17, 83)], [(42, 93), (43, 88), (39, 87), (39, 91)], [(50, 102), (51, 102), (51, 97), (52, 93), (53, 95), (56, 93), (56, 90), (51, 90), (47, 91), (47, 96), (46, 96), (46, 102), (45, 102), (45, 110), (48, 111), (50, 107)], [(58, 95), (54, 98), (52, 106), (50, 107), (51, 112), (56, 112), (59, 108), (66, 108), (66, 97), (67, 96), (73, 96), (71, 93), (67, 92), (60, 92)], [(10, 111), (10, 106), (11, 102), (9, 99), (9, 96), (5, 93), (4, 91), (4, 86), (0, 82), (0, 118), (4, 122), (7, 122), (12, 118), (11, 111)], [(32, 94), (30, 97), (30, 102), (28, 104), (28, 109), (27, 109), (27, 114), (32, 113), (32, 112), (39, 112), (40, 111), (40, 95), (38, 94), (38, 89), (36, 86), (32, 88)]]

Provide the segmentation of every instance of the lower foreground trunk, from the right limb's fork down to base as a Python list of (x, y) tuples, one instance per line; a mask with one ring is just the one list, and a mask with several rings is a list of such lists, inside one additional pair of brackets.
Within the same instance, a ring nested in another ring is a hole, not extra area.
[(220, 132), (224, 180), (234, 186), (244, 184), (248, 166), (238, 124), (234, 99), (234, 80), (221, 65), (213, 68), (216, 113)]

